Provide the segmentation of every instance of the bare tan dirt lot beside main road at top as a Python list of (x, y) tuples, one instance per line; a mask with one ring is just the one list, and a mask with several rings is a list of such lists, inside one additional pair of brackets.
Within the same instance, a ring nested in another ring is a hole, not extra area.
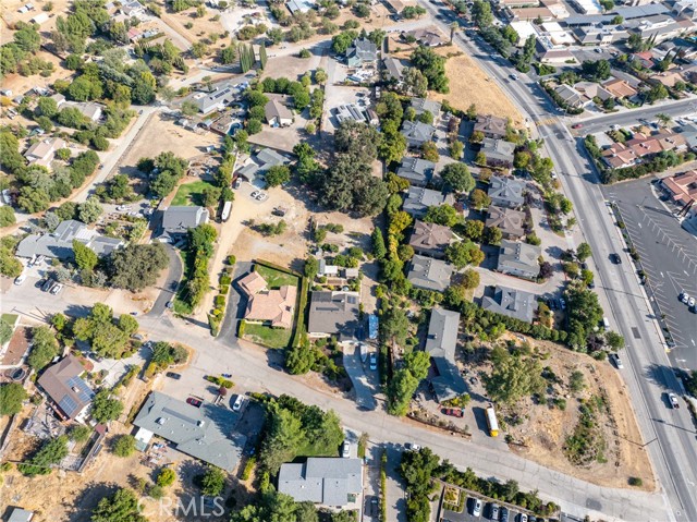
[[(395, 56), (408, 58), (412, 46), (401, 41), (398, 36), (391, 36), (390, 49), (402, 49)], [(455, 53), (453, 46), (443, 46), (435, 49), (441, 56)], [(511, 118), (516, 126), (523, 126), (523, 116), (513, 102), (503, 94), (501, 88), (489, 77), (468, 54), (461, 52), (451, 56), (445, 62), (445, 73), (450, 80), (450, 93), (439, 94), (429, 92), (428, 97), (442, 101), (447, 99), (455, 109), (467, 110), (470, 104), (477, 106), (477, 111), (482, 114), (494, 114), (501, 118)]]

